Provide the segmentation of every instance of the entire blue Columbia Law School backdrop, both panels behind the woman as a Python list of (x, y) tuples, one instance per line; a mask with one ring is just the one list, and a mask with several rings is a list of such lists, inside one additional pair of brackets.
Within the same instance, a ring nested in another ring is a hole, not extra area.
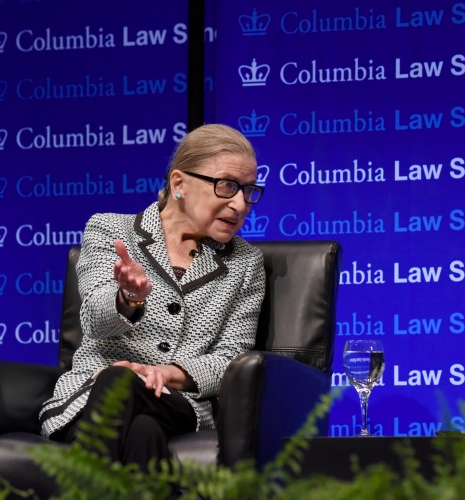
[[(465, 3), (207, 7), (206, 121), (250, 138), (266, 187), (242, 236), (342, 243), (333, 385), (346, 340), (383, 342), (372, 432), (465, 430)], [(185, 0), (0, 2), (1, 359), (56, 364), (68, 248), (156, 198), (186, 24)], [(331, 435), (359, 424), (348, 388)]]

